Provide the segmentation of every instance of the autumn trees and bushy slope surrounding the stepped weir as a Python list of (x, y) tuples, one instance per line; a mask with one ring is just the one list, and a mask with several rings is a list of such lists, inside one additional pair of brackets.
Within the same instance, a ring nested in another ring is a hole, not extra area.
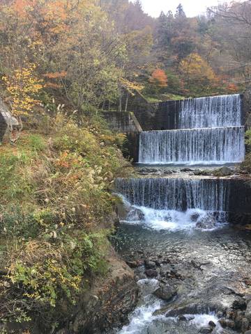
[(140, 0), (0, 1), (0, 95), (19, 125), (0, 145), (1, 334), (87, 333), (60, 330), (109, 273), (112, 187), (135, 175), (102, 111), (130, 111), (125, 92), (242, 93), (250, 54), (250, 1), (158, 18)]

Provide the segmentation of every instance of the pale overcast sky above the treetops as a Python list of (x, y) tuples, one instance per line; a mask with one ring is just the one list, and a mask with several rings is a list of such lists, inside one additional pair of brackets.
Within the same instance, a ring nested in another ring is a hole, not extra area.
[(178, 3), (182, 3), (185, 14), (189, 17), (206, 12), (206, 8), (217, 6), (218, 3), (230, 2), (230, 0), (141, 0), (144, 11), (153, 17), (158, 17), (161, 10), (167, 13), (172, 10), (175, 13)]

